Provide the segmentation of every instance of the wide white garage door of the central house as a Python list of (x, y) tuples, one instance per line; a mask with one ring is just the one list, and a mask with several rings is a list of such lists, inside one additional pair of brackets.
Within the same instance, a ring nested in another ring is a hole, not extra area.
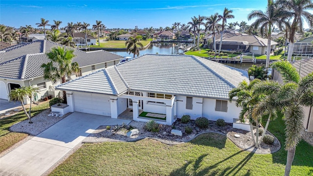
[(74, 92), (75, 111), (111, 116), (110, 97), (92, 93)]

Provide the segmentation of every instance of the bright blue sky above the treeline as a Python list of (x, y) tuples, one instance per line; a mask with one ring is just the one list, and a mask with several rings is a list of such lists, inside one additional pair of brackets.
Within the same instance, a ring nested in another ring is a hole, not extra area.
[[(0, 24), (19, 28), (36, 23), (41, 18), (67, 22), (102, 21), (107, 28), (171, 27), (174, 22), (187, 24), (193, 16), (223, 14), (224, 8), (233, 10), (229, 22), (247, 20), (252, 10), (265, 11), (268, 0), (0, 0)], [(48, 27), (49, 28), (49, 27)], [(202, 27), (203, 28), (203, 27)], [(305, 23), (304, 28), (308, 28)]]

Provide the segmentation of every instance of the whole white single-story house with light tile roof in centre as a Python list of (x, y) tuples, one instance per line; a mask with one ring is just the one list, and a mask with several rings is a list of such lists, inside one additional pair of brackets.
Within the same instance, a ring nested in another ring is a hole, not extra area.
[(67, 91), (71, 112), (117, 118), (132, 111), (133, 120), (145, 122), (139, 116), (145, 111), (166, 115), (155, 119), (166, 125), (184, 114), (233, 123), (241, 108), (228, 92), (243, 80), (249, 81), (246, 71), (196, 56), (145, 54), (55, 88)]

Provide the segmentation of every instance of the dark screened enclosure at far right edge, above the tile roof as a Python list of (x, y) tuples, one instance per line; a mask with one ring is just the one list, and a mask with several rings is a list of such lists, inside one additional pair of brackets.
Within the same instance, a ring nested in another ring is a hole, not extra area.
[(308, 37), (293, 44), (292, 54), (301, 56), (313, 56), (313, 37)]

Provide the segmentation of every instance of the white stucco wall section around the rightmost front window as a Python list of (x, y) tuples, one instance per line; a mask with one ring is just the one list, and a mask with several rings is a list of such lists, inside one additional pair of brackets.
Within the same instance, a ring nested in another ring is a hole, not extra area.
[(231, 103), (227, 101), (227, 112), (215, 111), (216, 99), (203, 98), (203, 108), (202, 116), (208, 118), (209, 120), (216, 121), (221, 118), (225, 122), (233, 123), (234, 118), (238, 118), (240, 113), (240, 108), (237, 108), (235, 101)]

